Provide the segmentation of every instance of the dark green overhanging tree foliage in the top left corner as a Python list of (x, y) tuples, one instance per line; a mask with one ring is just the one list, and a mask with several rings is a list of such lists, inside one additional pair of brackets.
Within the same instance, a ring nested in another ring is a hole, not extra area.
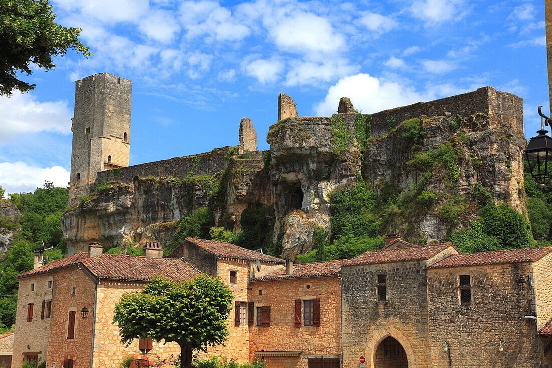
[(27, 92), (35, 85), (17, 78), (31, 74), (31, 64), (50, 70), (52, 57), (73, 49), (86, 57), (88, 47), (78, 41), (80, 28), (65, 28), (54, 22), (48, 0), (0, 0), (0, 96), (13, 90)]

